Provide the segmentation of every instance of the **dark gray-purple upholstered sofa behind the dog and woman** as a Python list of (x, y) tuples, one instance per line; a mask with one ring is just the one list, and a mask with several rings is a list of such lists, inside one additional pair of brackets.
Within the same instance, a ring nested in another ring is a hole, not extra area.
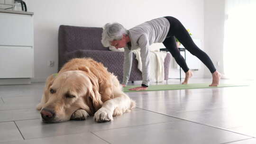
[[(101, 27), (59, 27), (58, 52), (61, 67), (72, 58), (91, 57), (103, 63), (109, 72), (113, 72), (120, 82), (123, 81), (124, 52), (113, 52), (101, 45)], [(165, 57), (165, 80), (168, 79), (171, 54)], [(137, 60), (133, 55), (132, 70), (129, 81), (141, 81), (141, 72), (137, 69)]]

